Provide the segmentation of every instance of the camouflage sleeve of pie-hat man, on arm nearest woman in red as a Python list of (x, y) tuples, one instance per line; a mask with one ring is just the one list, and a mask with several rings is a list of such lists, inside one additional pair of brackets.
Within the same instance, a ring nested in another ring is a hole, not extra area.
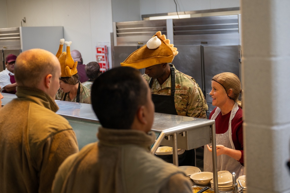
[(186, 116), (203, 118), (206, 117), (206, 110), (209, 109), (204, 95), (199, 86), (195, 85), (192, 88), (192, 92), (188, 97), (188, 106), (186, 111)]

